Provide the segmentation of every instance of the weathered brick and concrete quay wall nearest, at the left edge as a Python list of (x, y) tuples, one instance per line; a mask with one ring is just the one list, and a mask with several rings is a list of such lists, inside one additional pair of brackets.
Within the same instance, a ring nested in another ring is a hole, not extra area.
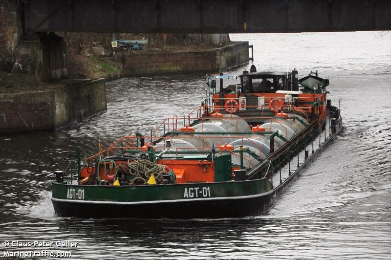
[(0, 133), (54, 130), (106, 109), (103, 79), (49, 91), (0, 94)]

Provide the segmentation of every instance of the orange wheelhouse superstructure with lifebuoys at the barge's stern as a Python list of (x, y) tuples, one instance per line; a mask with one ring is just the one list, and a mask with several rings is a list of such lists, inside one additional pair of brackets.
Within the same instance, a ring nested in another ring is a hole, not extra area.
[[(292, 71), (260, 71), (254, 65), (238, 76), (219, 75), (210, 78), (205, 90), (207, 96), (202, 106), (208, 111), (243, 116), (276, 116), (279, 112), (320, 116), (326, 119), (328, 80), (318, 77), (317, 72), (299, 79)], [(223, 84), (232, 80), (235, 84)], [(219, 81), (219, 87), (217, 82)], [(213, 97), (212, 100), (210, 97)], [(251, 122), (256, 123), (256, 122)]]

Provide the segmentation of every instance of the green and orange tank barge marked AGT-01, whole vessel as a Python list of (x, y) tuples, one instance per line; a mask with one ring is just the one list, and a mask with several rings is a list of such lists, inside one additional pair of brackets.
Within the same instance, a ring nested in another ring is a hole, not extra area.
[(296, 69), (257, 72), (254, 65), (210, 77), (201, 106), (164, 119), (150, 136), (134, 132), (84, 160), (79, 148), (77, 180), (56, 172), (55, 213), (258, 216), (342, 129), (326, 86), (312, 72), (299, 79)]

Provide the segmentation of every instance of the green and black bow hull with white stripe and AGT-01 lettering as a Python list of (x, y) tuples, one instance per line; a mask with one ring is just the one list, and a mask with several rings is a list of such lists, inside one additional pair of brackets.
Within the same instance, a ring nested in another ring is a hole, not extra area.
[(272, 196), (267, 178), (119, 187), (53, 183), (52, 202), (61, 217), (216, 218), (257, 216)]

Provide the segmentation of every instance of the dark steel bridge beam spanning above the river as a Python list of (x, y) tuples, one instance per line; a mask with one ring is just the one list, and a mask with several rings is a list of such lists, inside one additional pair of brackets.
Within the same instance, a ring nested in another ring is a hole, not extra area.
[(391, 30), (390, 0), (27, 0), (27, 31), (270, 33)]

